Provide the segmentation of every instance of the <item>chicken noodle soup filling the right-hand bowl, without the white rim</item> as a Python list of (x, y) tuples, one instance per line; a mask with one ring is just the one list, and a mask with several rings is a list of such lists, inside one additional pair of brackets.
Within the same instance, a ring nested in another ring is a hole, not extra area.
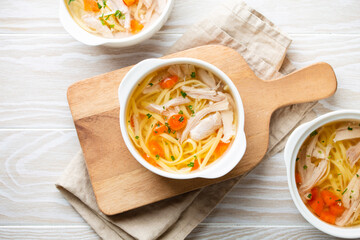
[(296, 183), (307, 207), (337, 226), (360, 223), (360, 123), (329, 123), (301, 146)]

